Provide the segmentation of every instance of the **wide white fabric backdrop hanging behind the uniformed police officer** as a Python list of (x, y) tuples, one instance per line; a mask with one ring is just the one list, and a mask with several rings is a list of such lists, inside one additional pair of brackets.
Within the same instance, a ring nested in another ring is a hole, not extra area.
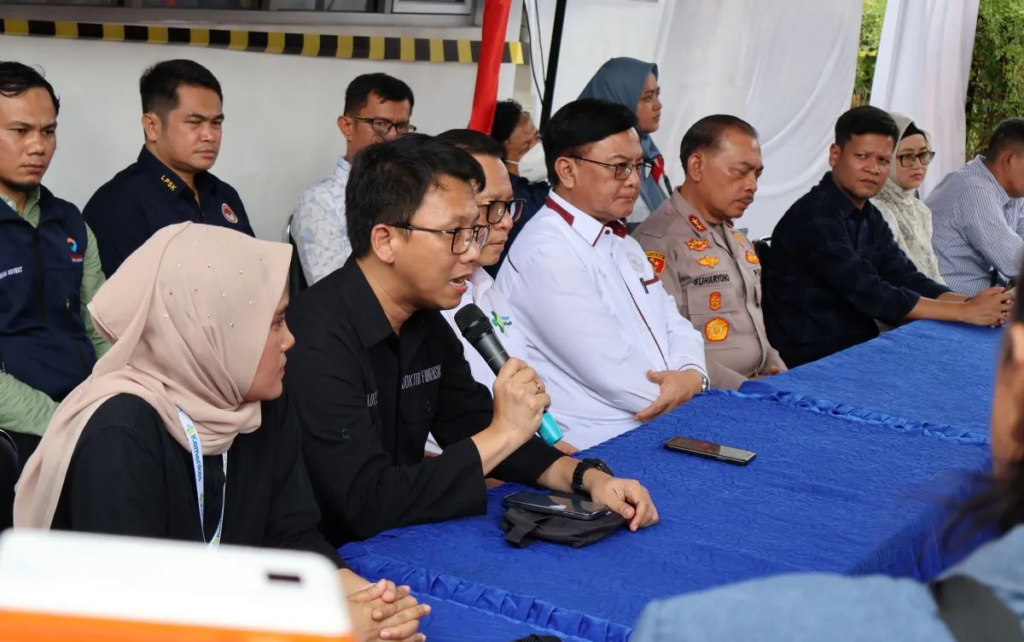
[(771, 233), (828, 169), (836, 119), (853, 95), (861, 12), (862, 0), (669, 2), (654, 56), (665, 103), (654, 140), (673, 183), (694, 122), (743, 118), (760, 133), (765, 172), (738, 224), (755, 238)]

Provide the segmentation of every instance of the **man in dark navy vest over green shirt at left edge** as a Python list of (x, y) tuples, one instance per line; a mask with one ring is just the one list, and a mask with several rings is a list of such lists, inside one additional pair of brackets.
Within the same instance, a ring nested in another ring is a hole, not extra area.
[(86, 309), (103, 283), (95, 239), (41, 184), (59, 109), (38, 72), (0, 62), (0, 428), (22, 464), (110, 347)]

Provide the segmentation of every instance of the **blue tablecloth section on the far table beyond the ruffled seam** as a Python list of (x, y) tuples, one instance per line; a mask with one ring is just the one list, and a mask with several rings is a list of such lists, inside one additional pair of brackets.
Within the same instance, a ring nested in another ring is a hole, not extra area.
[(915, 322), (740, 391), (874, 421), (952, 426), (987, 439), (1000, 336), (991, 328)]

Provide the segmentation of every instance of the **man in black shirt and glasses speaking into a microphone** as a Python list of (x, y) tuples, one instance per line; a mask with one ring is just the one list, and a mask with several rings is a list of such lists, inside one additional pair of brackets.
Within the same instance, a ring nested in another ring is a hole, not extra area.
[[(550, 399), (512, 358), (494, 399), (438, 310), (459, 305), (489, 231), (480, 165), (420, 134), (364, 149), (346, 187), (352, 255), (296, 297), (285, 384), (335, 546), (486, 510), (485, 476), (590, 494), (629, 520), (657, 513), (638, 482), (535, 436)], [(427, 435), (443, 448), (424, 458)]]

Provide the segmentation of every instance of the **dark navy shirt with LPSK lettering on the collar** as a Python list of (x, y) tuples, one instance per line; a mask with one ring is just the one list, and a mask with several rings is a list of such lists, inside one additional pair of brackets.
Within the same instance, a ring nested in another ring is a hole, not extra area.
[(242, 199), (210, 172), (196, 175), (196, 191), (174, 170), (142, 147), (138, 161), (96, 190), (82, 214), (99, 247), (110, 276), (158, 229), (193, 221), (220, 225), (255, 237)]

